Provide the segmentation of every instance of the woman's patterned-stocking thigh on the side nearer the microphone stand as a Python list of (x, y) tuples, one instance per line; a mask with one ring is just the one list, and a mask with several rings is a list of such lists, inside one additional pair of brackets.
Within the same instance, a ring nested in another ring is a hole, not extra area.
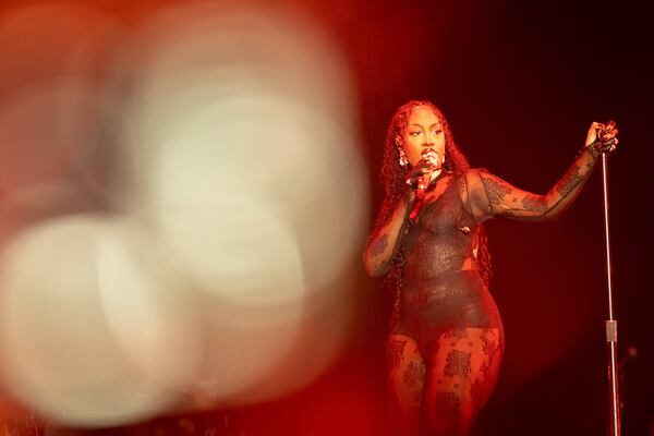
[(499, 328), (443, 332), (427, 356), (423, 425), (439, 435), (468, 434), (495, 387), (502, 350)]

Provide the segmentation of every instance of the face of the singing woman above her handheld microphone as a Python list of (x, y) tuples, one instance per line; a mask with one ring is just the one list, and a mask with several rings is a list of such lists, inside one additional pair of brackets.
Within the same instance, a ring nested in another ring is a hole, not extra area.
[(436, 113), (426, 106), (417, 106), (409, 116), (407, 129), (401, 137), (402, 148), (414, 167), (424, 149), (438, 154), (439, 165), (445, 161), (445, 133)]

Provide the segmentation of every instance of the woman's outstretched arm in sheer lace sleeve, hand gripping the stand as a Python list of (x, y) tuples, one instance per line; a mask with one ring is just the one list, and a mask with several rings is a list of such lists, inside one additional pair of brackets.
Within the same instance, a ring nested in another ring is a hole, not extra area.
[[(597, 132), (601, 138), (598, 138)], [(479, 221), (502, 217), (523, 221), (545, 221), (559, 217), (579, 196), (600, 153), (613, 152), (618, 133), (615, 123), (593, 123), (586, 145), (564, 177), (545, 195), (522, 191), (486, 171), (468, 173), (468, 195)]]

